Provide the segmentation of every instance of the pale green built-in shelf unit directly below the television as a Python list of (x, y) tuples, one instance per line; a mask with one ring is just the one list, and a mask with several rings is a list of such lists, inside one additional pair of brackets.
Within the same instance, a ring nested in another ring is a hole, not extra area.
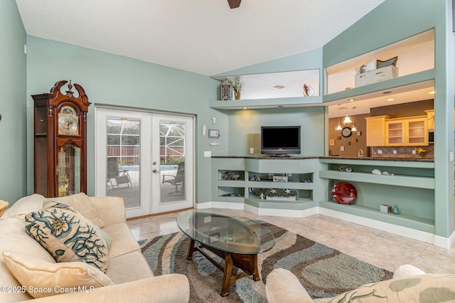
[[(313, 203), (315, 189), (315, 163), (318, 159), (255, 159), (223, 157), (213, 159), (213, 199), (215, 201), (246, 203), (258, 208), (306, 209)], [(232, 168), (228, 170), (227, 168)], [(234, 173), (237, 180), (225, 179)], [(286, 177), (287, 181), (273, 181), (273, 176)], [(259, 198), (269, 188), (296, 191), (296, 201), (270, 201)], [(313, 205), (313, 204), (312, 204)], [(314, 205), (315, 206), (315, 205)], [(312, 206), (311, 206), (312, 207)]]

